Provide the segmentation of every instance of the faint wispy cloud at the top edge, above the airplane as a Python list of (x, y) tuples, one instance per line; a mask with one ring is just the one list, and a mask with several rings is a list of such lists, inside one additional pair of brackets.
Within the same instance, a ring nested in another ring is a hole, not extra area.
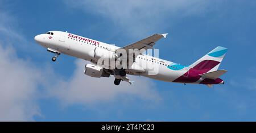
[[(81, 9), (91, 14), (100, 14), (110, 19), (130, 36), (143, 36), (148, 32), (159, 32), (171, 24), (190, 15), (205, 14), (208, 1), (64, 1), (67, 7)], [(168, 18), (168, 23), (166, 20)], [(170, 21), (171, 20), (171, 21)]]

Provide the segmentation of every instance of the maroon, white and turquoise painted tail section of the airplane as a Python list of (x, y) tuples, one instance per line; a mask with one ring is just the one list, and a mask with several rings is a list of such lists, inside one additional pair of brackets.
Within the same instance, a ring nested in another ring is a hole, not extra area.
[[(189, 65), (189, 69), (182, 76), (176, 78), (174, 82), (198, 82), (199, 84), (206, 84), (208, 86), (212, 84), (224, 84), (224, 81), (220, 77), (226, 73), (226, 70), (218, 70), (221, 61), (224, 59), (227, 48), (217, 47), (210, 51), (207, 55), (201, 57), (195, 63)], [(174, 68), (172, 68), (174, 66)], [(172, 70), (184, 69), (185, 66), (176, 64), (169, 67)], [(180, 68), (180, 69), (179, 69)]]

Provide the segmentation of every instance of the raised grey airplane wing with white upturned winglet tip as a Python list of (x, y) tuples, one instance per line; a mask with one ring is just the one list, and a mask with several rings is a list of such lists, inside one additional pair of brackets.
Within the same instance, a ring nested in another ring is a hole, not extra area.
[(129, 49), (152, 49), (156, 41), (160, 40), (161, 38), (166, 38), (167, 35), (168, 34), (155, 34), (143, 40), (137, 41), (136, 43), (126, 45), (121, 49), (125, 49), (127, 53)]

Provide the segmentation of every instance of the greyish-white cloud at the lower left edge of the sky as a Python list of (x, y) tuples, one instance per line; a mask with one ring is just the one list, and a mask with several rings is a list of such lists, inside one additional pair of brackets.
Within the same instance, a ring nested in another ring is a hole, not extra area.
[(36, 88), (40, 72), (31, 63), (19, 59), (14, 49), (0, 44), (0, 121), (33, 120), (40, 115)]

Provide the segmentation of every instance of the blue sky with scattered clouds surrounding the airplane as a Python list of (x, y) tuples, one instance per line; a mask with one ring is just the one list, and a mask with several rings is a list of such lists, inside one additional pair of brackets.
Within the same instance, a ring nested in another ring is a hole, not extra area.
[[(255, 1), (0, 0), (0, 120), (255, 121)], [(34, 36), (50, 30), (124, 46), (155, 33), (162, 59), (192, 64), (228, 48), (225, 85), (131, 76), (133, 86), (82, 73), (86, 61), (52, 53)]]

